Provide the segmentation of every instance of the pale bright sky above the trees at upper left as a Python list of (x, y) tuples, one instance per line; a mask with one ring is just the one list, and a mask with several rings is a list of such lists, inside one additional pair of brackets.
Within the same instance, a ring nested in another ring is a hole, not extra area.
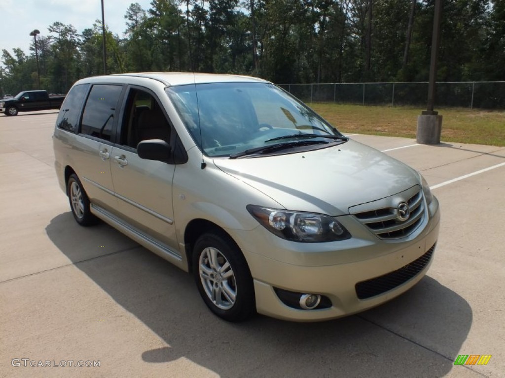
[[(131, 3), (139, 3), (144, 10), (150, 8), (150, 0), (104, 0), (105, 24), (120, 37), (126, 29), (124, 15)], [(72, 24), (80, 34), (92, 28), (96, 19), (102, 19), (100, 0), (1, 0), (0, 5), (0, 52), (6, 49), (11, 54), (16, 47), (30, 53), (30, 32), (34, 29), (48, 36), (47, 27), (59, 21)]]

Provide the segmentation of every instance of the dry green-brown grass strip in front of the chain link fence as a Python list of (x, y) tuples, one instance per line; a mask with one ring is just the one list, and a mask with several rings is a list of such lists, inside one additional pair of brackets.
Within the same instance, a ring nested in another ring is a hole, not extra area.
[[(422, 108), (309, 103), (339, 131), (416, 138)], [(505, 111), (438, 108), (444, 142), (505, 146)]]

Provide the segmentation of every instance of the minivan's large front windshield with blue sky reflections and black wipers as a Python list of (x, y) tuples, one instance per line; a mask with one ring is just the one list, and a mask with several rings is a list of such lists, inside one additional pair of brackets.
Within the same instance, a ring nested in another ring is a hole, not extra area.
[(281, 143), (286, 148), (319, 143), (321, 148), (342, 137), (273, 84), (191, 84), (166, 91), (195, 143), (211, 157), (233, 157)]

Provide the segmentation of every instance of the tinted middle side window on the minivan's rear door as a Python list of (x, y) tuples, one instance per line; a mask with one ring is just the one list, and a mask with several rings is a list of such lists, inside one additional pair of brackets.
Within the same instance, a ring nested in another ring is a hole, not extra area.
[(122, 89), (120, 85), (93, 85), (82, 113), (82, 134), (111, 140), (114, 113)]

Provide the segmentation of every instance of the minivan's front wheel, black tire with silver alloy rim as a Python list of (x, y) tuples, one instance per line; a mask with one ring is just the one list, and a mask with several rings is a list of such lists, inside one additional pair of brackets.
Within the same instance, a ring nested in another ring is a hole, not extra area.
[(249, 267), (238, 246), (225, 233), (214, 231), (197, 239), (193, 273), (201, 297), (218, 317), (239, 322), (256, 312)]

